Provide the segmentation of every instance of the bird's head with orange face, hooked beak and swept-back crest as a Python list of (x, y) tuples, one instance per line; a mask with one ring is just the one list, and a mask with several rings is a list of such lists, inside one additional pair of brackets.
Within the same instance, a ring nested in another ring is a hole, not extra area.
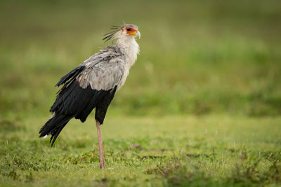
[(138, 31), (138, 26), (133, 24), (124, 24), (122, 26), (112, 26), (114, 31), (105, 34), (104, 41), (109, 41), (110, 39), (129, 39), (138, 36), (141, 39), (141, 32)]

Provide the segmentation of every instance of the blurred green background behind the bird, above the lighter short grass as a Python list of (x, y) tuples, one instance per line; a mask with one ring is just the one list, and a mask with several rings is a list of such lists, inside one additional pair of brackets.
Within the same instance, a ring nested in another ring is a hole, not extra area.
[[(0, 1), (0, 117), (49, 116), (55, 83), (138, 25), (141, 54), (109, 113), (281, 114), (281, 3)], [(93, 115), (93, 114), (92, 114)]]

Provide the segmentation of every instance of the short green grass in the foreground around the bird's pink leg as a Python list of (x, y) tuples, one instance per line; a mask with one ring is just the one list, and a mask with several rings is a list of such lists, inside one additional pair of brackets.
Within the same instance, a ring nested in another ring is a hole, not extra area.
[(1, 122), (1, 186), (281, 183), (281, 118), (107, 116), (105, 170), (99, 169), (93, 118), (67, 125), (52, 149), (34, 135), (44, 120)]

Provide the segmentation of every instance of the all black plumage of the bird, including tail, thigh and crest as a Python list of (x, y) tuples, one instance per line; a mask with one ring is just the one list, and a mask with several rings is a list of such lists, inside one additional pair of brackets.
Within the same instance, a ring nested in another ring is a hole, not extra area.
[[(105, 40), (112, 38), (116, 31), (110, 33), (105, 37)], [(57, 139), (63, 127), (72, 119), (80, 119), (84, 122), (89, 116), (91, 111), (96, 107), (96, 120), (103, 124), (107, 107), (110, 105), (115, 92), (117, 90), (117, 85), (115, 88), (110, 90), (94, 90), (91, 85), (87, 88), (81, 88), (77, 77), (84, 71), (86, 67), (79, 66), (68, 74), (60, 78), (60, 81), (55, 86), (63, 85), (58, 91), (57, 98), (51, 106), (50, 111), (53, 113), (52, 118), (50, 118), (39, 132), (39, 137), (44, 137), (51, 134), (51, 146), (53, 146), (55, 139)]]

